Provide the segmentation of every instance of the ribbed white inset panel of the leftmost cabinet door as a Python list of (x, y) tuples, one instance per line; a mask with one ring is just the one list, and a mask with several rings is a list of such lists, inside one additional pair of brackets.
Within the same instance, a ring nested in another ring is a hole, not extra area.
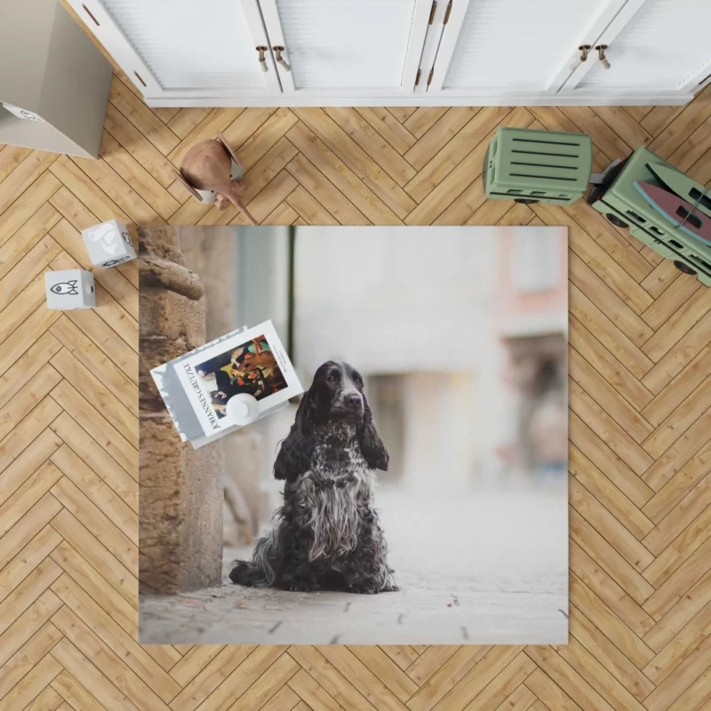
[(103, 0), (164, 89), (263, 89), (238, 0)]

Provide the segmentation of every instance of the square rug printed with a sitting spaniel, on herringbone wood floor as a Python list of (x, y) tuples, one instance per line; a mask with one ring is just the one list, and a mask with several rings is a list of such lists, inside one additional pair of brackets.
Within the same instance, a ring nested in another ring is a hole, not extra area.
[(140, 642), (567, 643), (567, 243), (140, 230)]

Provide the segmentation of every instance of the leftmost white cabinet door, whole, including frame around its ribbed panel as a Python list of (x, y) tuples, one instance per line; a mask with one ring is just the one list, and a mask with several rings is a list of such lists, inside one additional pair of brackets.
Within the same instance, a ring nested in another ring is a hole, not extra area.
[(257, 0), (68, 2), (146, 97), (281, 94)]

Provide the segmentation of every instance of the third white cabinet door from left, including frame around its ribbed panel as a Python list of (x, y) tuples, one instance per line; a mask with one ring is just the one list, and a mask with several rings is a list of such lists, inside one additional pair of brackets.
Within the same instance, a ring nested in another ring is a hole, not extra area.
[(427, 93), (553, 95), (570, 76), (578, 47), (599, 36), (624, 3), (452, 0)]

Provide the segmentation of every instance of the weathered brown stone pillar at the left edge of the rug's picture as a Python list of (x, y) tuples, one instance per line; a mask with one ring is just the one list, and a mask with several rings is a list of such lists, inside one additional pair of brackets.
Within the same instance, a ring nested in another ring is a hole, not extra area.
[(205, 342), (203, 286), (173, 228), (140, 228), (141, 593), (220, 584), (224, 454), (218, 440), (182, 443), (151, 368)]

